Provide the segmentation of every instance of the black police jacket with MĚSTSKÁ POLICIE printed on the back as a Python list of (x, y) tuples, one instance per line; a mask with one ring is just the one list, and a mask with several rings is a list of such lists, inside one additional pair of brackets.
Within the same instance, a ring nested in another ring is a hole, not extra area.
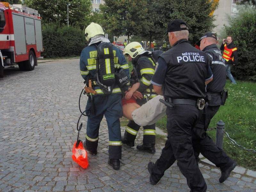
[(205, 80), (212, 77), (212, 73), (210, 77), (207, 74), (211, 70), (211, 58), (205, 52), (190, 45), (186, 39), (181, 39), (172, 49), (161, 54), (160, 58), (167, 64), (164, 97), (193, 100), (205, 98)]

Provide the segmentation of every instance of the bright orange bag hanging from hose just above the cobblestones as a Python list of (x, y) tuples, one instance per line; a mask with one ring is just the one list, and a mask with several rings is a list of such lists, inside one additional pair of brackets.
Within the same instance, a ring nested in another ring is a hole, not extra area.
[(88, 158), (87, 158), (87, 151), (84, 149), (83, 142), (81, 140), (78, 140), (78, 146), (76, 146), (77, 141), (74, 144), (73, 150), (72, 150), (72, 159), (77, 164), (79, 164), (81, 167), (86, 169), (89, 165)]

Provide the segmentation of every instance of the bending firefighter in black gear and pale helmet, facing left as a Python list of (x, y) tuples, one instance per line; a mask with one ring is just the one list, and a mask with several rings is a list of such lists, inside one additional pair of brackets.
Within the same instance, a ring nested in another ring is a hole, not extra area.
[[(128, 55), (129, 61), (133, 64), (133, 83), (140, 82), (140, 87), (137, 91), (144, 95), (142, 100), (137, 99), (136, 102), (141, 106), (156, 96), (153, 90), (153, 86), (150, 80), (155, 72), (156, 64), (152, 59), (151, 54), (145, 51), (141, 44), (138, 42), (132, 42), (124, 49), (124, 55)], [(129, 121), (126, 125), (124, 137), (122, 142), (130, 147), (134, 146), (134, 140), (140, 129), (140, 125), (134, 121)], [(146, 125), (143, 127), (143, 144), (138, 145), (137, 149), (146, 151), (148, 153), (155, 153), (155, 142), (156, 142), (156, 124)]]

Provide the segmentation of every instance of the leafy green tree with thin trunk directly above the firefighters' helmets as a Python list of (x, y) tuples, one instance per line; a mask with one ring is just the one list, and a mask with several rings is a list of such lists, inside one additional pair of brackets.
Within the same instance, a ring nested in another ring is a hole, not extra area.
[(146, 0), (105, 0), (100, 5), (103, 28), (115, 36), (140, 34), (146, 20)]

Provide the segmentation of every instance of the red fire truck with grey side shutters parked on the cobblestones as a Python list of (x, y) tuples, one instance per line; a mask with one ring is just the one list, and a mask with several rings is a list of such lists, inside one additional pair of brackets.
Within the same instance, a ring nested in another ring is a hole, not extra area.
[(21, 4), (0, 2), (0, 77), (4, 68), (34, 70), (43, 52), (40, 14)]

